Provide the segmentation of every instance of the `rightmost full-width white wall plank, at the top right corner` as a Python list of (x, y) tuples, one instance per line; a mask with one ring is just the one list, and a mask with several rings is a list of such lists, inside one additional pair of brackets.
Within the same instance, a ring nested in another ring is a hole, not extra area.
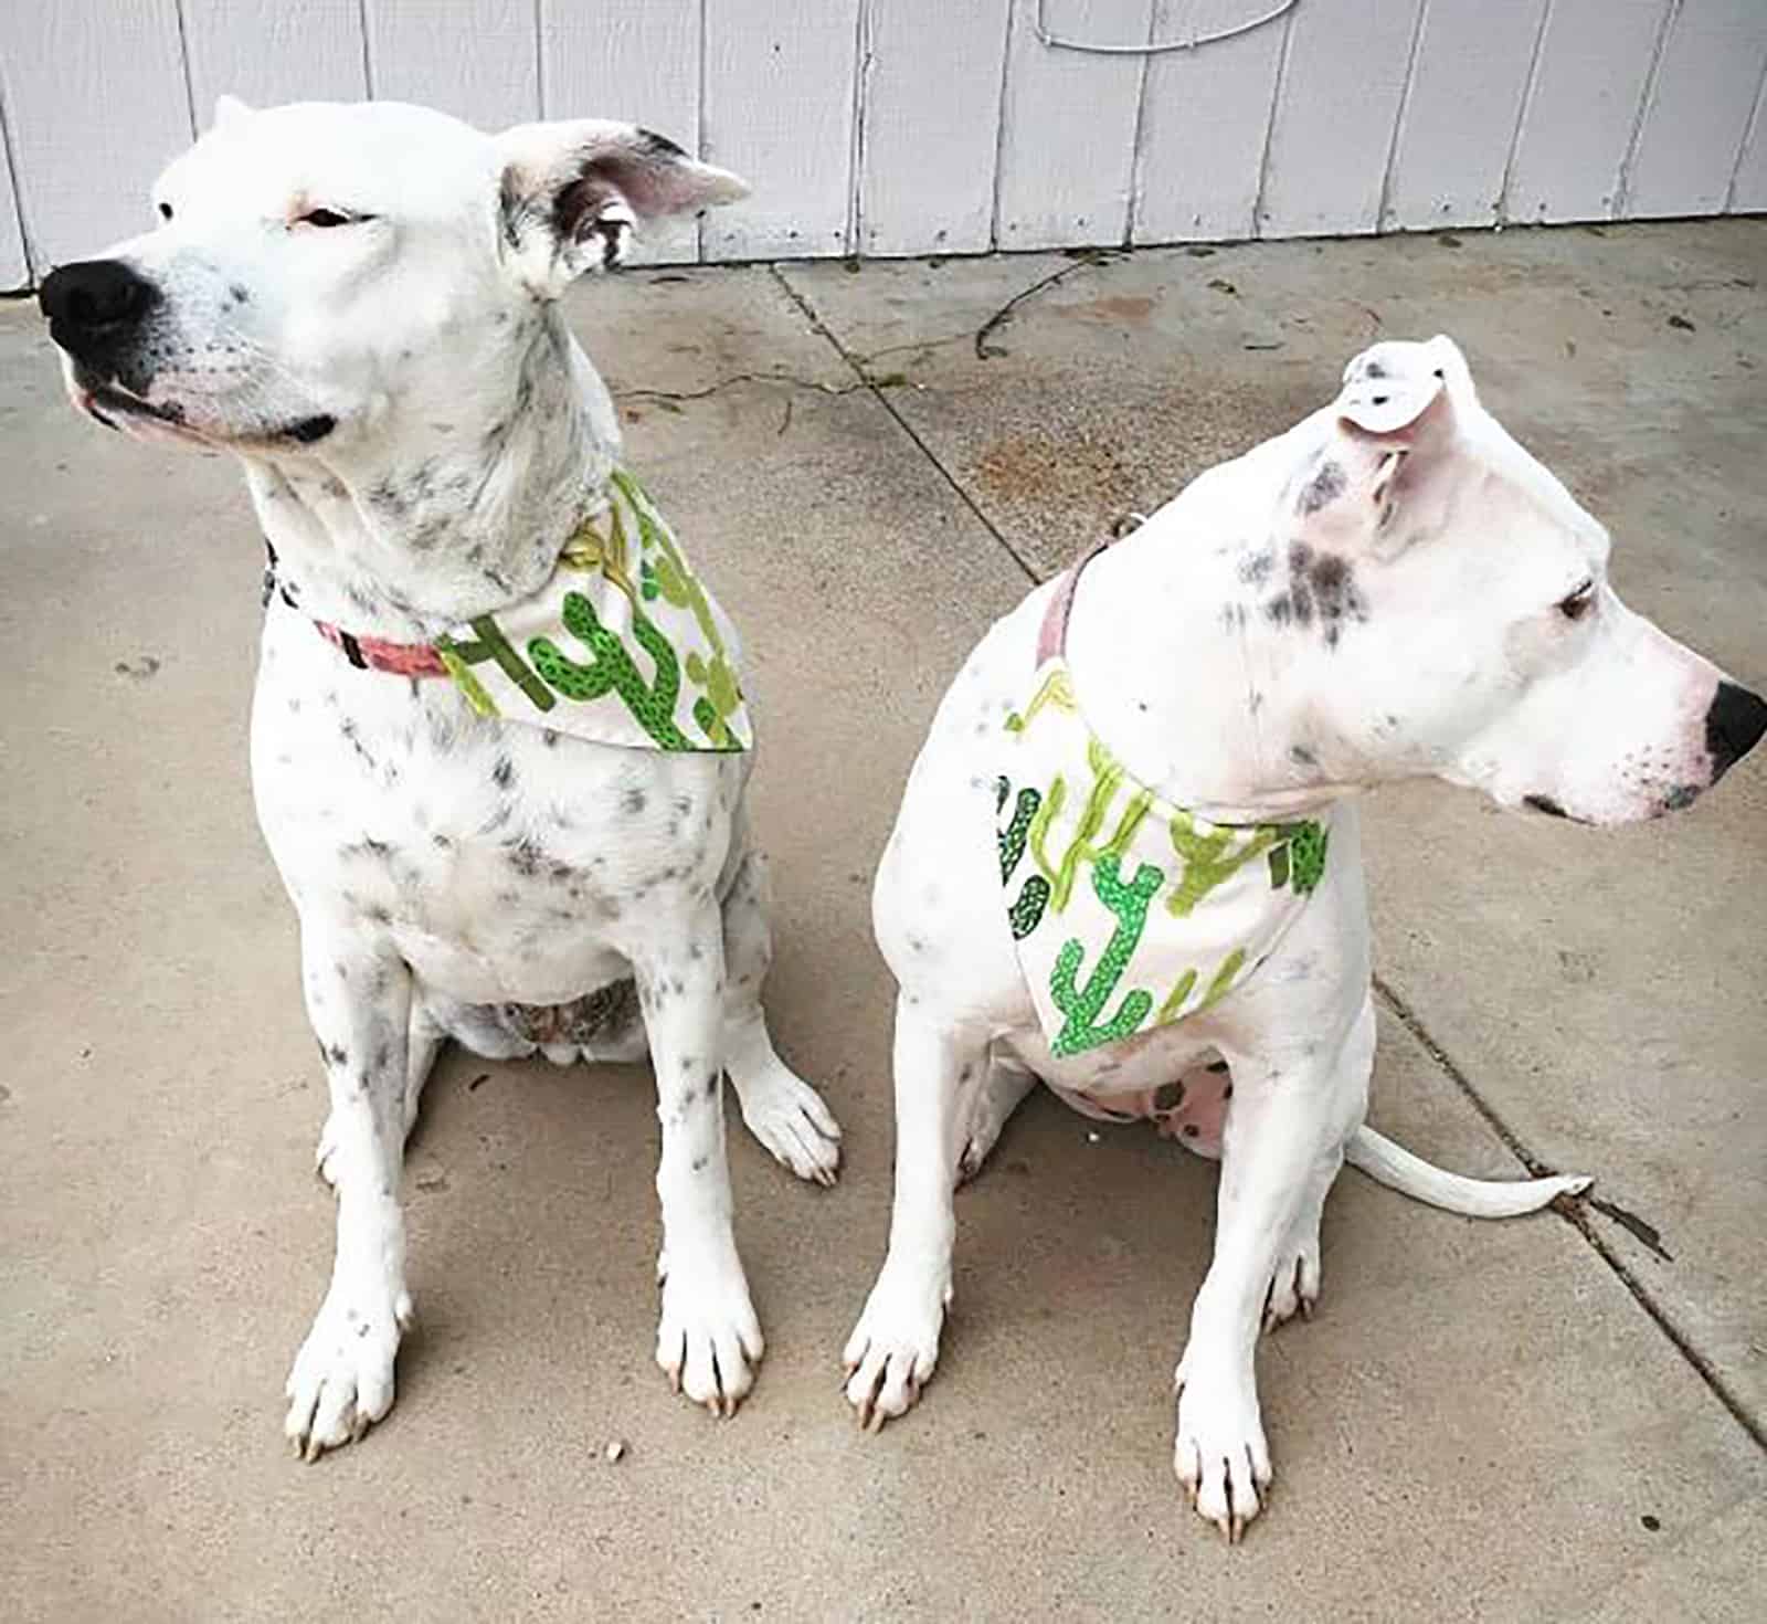
[(1763, 62), (1763, 0), (1682, 0), (1663, 42), (1620, 214), (1723, 210)]

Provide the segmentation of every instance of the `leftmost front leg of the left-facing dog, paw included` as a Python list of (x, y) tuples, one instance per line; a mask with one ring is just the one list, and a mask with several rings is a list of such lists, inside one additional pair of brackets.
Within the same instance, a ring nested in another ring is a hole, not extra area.
[(392, 1361), (412, 1318), (399, 1212), (412, 981), (399, 960), (311, 928), (300, 958), (330, 1090), (337, 1253), (288, 1375), (284, 1431), (316, 1460), (392, 1408)]

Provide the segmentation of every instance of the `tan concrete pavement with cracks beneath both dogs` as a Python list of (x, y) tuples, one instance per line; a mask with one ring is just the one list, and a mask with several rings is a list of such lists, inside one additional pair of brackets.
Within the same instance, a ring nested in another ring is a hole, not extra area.
[(1624, 1218), (1472, 1225), (1346, 1173), (1320, 1318), (1262, 1354), (1279, 1483), (1239, 1550), (1170, 1468), (1214, 1175), (1145, 1131), (1025, 1108), (959, 1200), (958, 1313), (906, 1421), (857, 1433), (838, 1357), (889, 1205), (871, 866), (988, 620), (1369, 338), (1449, 330), (1610, 523), (1622, 590), (1760, 684), (1762, 277), (1767, 224), (1732, 221), (583, 288), (631, 459), (751, 650), (770, 1006), (846, 1172), (808, 1189), (733, 1129), (769, 1355), (717, 1426), (650, 1364), (647, 1074), (447, 1057), (399, 1405), (311, 1468), (279, 1393), (330, 1202), (246, 786), (256, 530), (228, 463), (80, 424), (32, 309), (0, 307), (7, 1613), (1758, 1617), (1756, 763), (1615, 834), (1373, 802), (1375, 1120), (1467, 1172), (1597, 1173)]

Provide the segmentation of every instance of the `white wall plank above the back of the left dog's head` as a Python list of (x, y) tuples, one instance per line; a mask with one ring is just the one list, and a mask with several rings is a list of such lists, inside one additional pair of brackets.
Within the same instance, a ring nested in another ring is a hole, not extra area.
[(371, 94), (479, 129), (539, 117), (534, 0), (362, 0)]

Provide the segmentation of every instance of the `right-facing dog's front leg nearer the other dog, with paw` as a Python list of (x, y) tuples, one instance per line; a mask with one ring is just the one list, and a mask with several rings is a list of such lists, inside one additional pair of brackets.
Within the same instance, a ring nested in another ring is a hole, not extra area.
[(873, 1431), (901, 1415), (938, 1362), (951, 1306), (951, 1191), (959, 1124), (988, 1066), (988, 1034), (954, 1030), (896, 998), (896, 1200), (889, 1251), (846, 1341), (846, 1400)]

